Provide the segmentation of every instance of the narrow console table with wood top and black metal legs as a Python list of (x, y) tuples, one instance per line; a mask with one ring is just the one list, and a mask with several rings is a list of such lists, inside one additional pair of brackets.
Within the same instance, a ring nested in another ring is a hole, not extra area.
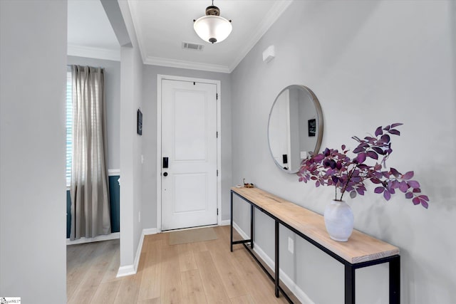
[[(250, 204), (250, 239), (233, 241), (233, 194), (236, 194)], [(258, 209), (275, 221), (275, 269), (274, 278), (266, 271), (254, 253), (254, 209)], [(355, 303), (355, 271), (358, 268), (389, 263), (389, 293), (390, 304), (400, 303), (400, 256), (399, 248), (389, 243), (353, 230), (347, 242), (333, 241), (326, 232), (323, 216), (302, 206), (281, 199), (258, 188), (231, 189), (231, 235), (230, 249), (233, 245), (242, 243), (259, 266), (274, 282), (275, 294), (279, 291), (292, 303), (291, 299), (279, 285), (279, 224), (293, 231), (301, 238), (309, 241), (321, 251), (332, 256), (345, 266), (345, 303)], [(250, 244), (249, 246), (246, 243)]]

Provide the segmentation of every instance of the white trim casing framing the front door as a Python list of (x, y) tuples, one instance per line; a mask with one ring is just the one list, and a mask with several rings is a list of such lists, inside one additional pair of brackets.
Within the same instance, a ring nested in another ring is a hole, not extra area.
[[(217, 87), (217, 170), (219, 172), (217, 176), (217, 225), (222, 223), (222, 134), (220, 132), (221, 127), (221, 101), (222, 94), (220, 80), (210, 80), (203, 78), (191, 78), (181, 77), (174, 75), (157, 75), (157, 232), (162, 231), (162, 80), (178, 80), (195, 83), (209, 83), (216, 85)], [(215, 172), (214, 172), (215, 174)]]

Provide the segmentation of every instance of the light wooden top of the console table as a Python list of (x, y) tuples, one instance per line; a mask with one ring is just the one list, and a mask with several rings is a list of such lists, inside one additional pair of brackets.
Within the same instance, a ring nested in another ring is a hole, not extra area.
[(399, 254), (398, 247), (363, 234), (356, 229), (353, 229), (348, 241), (334, 241), (326, 231), (323, 216), (259, 188), (232, 187), (232, 191), (321, 244), (321, 246), (328, 248), (349, 263), (375, 261), (379, 258)]

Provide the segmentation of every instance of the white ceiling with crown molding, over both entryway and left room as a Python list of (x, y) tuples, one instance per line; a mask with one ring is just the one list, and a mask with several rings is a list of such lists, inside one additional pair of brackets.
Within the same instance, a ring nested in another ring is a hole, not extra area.
[[(230, 73), (291, 0), (214, 0), (220, 16), (232, 20), (233, 26), (230, 36), (215, 44), (202, 41), (193, 30), (193, 20), (204, 16), (211, 0), (128, 0), (128, 4), (144, 63)], [(183, 41), (204, 48), (185, 50)], [(116, 60), (119, 50), (99, 0), (68, 1), (69, 55)]]

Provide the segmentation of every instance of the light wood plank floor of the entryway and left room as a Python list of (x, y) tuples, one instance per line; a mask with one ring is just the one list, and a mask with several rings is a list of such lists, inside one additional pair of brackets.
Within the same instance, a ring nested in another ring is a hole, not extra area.
[(287, 303), (242, 245), (229, 251), (229, 226), (214, 229), (217, 240), (172, 246), (145, 236), (138, 273), (123, 278), (118, 240), (67, 246), (68, 303)]

